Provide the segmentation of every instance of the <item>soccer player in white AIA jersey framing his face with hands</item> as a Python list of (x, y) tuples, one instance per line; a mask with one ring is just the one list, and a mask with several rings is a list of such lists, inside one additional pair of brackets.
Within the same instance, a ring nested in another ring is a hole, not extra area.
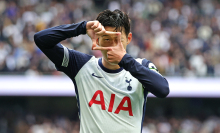
[[(101, 50), (102, 58), (60, 44), (81, 34), (92, 39), (92, 50)], [(60, 25), (35, 34), (36, 45), (75, 85), (80, 133), (139, 133), (147, 94), (159, 98), (169, 94), (167, 80), (152, 62), (126, 53), (131, 39), (129, 17), (120, 10), (105, 10), (96, 21)]]

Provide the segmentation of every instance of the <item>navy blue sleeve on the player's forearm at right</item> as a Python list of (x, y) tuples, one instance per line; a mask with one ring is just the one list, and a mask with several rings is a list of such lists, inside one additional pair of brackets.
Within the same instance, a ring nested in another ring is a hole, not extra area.
[(144, 89), (154, 94), (156, 97), (165, 98), (169, 94), (169, 85), (167, 80), (159, 73), (149, 69), (151, 62), (146, 59), (142, 65), (129, 54), (125, 54), (119, 62), (119, 66), (129, 71), (132, 76), (142, 83)]

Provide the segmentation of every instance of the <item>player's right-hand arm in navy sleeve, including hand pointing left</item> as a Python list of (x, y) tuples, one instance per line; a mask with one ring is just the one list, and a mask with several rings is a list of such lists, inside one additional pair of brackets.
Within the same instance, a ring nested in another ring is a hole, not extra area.
[[(118, 64), (125, 70), (129, 71), (132, 76), (137, 78), (149, 92), (157, 97), (164, 98), (169, 94), (169, 85), (167, 80), (159, 73), (149, 69), (148, 63), (141, 65), (130, 55), (126, 54), (125, 47), (121, 42), (121, 33), (115, 32), (118, 35), (116, 46), (112, 47), (94, 47), (93, 50), (106, 50), (107, 60), (110, 63)], [(131, 40), (131, 38), (130, 38)], [(143, 64), (143, 62), (142, 62)], [(153, 64), (153, 63), (152, 63)]]

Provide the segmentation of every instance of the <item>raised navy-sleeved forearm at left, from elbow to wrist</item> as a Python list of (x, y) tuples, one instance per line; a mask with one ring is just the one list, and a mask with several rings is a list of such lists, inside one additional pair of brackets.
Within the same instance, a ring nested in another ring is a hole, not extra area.
[(86, 34), (85, 21), (77, 24), (66, 24), (42, 30), (34, 35), (36, 45), (41, 48), (52, 48), (62, 40)]

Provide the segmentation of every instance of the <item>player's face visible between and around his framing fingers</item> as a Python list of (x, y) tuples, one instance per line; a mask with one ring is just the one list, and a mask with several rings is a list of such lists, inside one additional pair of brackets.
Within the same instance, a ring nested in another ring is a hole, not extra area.
[[(105, 26), (105, 30), (111, 32), (119, 32), (119, 31), (115, 31), (115, 27), (109, 27), (109, 26)], [(123, 44), (124, 49), (126, 49), (127, 45), (131, 42), (131, 39), (132, 39), (132, 34), (129, 33), (127, 37), (124, 32), (124, 28), (122, 28), (121, 43)], [(118, 45), (118, 43), (120, 42), (118, 42), (117, 35), (103, 35), (97, 39), (97, 44), (101, 47), (114, 47)], [(101, 51), (101, 52), (104, 59), (107, 61), (107, 51)]]

